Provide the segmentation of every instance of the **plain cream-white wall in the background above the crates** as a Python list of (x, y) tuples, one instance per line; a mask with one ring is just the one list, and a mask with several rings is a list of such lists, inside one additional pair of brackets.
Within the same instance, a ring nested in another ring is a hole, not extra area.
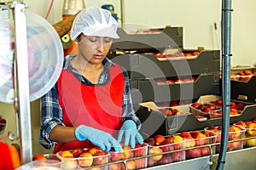
[[(50, 0), (24, 0), (31, 10), (45, 17)], [(64, 0), (55, 0), (49, 14), (49, 22), (61, 20)], [(208, 49), (220, 48), (221, 0), (84, 0), (85, 6), (113, 4), (115, 12), (121, 18), (120, 3), (123, 3), (123, 22), (136, 24), (125, 26), (126, 31), (145, 27), (183, 26), (183, 47)], [(232, 1), (231, 23), (231, 59), (232, 65), (255, 65), (253, 52), (256, 39), (255, 0)], [(120, 20), (119, 20), (120, 21)], [(218, 30), (214, 30), (214, 22)]]

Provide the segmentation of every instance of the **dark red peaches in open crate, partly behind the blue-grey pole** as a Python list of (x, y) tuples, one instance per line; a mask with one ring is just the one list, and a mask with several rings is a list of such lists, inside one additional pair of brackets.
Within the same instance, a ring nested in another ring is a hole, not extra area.
[[(230, 101), (230, 116), (239, 116), (244, 109), (241, 102)], [(191, 112), (208, 119), (222, 117), (222, 99), (210, 101), (206, 104), (191, 104)]]

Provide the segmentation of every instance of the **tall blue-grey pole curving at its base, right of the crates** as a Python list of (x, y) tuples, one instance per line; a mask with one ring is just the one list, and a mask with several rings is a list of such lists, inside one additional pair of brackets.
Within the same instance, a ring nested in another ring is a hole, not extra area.
[(216, 169), (224, 169), (230, 127), (230, 35), (231, 0), (222, 2), (222, 134), (221, 148)]

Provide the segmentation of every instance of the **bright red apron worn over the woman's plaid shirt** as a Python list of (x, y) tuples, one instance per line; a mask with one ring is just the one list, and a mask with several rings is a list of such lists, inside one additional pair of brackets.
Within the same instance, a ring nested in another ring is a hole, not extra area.
[[(58, 93), (63, 110), (63, 123), (67, 127), (83, 124), (117, 137), (121, 115), (125, 78), (119, 65), (109, 68), (109, 81), (104, 85), (84, 85), (70, 70), (63, 70), (59, 78)], [(54, 153), (61, 150), (95, 147), (89, 140), (55, 144)]]

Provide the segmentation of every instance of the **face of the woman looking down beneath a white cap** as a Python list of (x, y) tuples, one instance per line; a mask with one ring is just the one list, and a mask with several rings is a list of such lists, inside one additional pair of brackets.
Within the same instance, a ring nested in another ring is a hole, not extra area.
[(110, 37), (84, 36), (79, 38), (79, 54), (90, 64), (102, 63), (108, 54), (113, 39)]

